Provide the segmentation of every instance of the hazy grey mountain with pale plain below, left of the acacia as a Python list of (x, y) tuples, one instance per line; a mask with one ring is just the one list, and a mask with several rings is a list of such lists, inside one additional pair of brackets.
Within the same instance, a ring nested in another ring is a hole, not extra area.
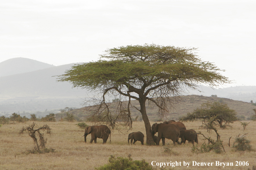
[(0, 115), (82, 107), (84, 98), (92, 93), (86, 89), (72, 88), (69, 82), (57, 82), (57, 76), (73, 65), (0, 77)]

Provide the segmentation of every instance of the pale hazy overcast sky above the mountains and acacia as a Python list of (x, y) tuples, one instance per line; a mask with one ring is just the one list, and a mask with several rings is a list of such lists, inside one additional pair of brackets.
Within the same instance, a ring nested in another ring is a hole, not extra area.
[(58, 66), (154, 43), (198, 48), (232, 86), (256, 85), (255, 0), (1, 0), (0, 24), (0, 62)]

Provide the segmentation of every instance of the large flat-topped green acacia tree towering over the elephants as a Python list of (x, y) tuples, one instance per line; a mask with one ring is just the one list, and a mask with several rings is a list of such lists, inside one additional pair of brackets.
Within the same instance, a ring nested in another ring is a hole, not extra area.
[[(146, 101), (154, 103), (159, 108), (157, 114), (162, 117), (168, 113), (168, 106), (172, 106), (170, 96), (178, 96), (184, 88), (197, 89), (198, 83), (213, 87), (229, 82), (219, 73), (223, 70), (201, 61), (195, 50), (155, 44), (121, 46), (106, 50), (99, 61), (73, 66), (60, 75), (58, 81), (101, 92), (100, 103), (94, 105), (97, 109), (91, 113), (101, 115), (101, 120), (112, 127), (119, 120), (131, 126), (130, 101), (138, 100), (140, 108), (136, 109), (145, 124), (147, 144), (153, 144)], [(119, 96), (116, 109), (110, 108), (107, 95)], [(126, 105), (124, 100), (128, 100)]]

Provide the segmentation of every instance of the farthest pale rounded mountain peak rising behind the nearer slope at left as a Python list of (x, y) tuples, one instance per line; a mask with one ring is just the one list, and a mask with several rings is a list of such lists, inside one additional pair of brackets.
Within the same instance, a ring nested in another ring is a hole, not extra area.
[(12, 58), (0, 63), (0, 77), (56, 67), (29, 58)]

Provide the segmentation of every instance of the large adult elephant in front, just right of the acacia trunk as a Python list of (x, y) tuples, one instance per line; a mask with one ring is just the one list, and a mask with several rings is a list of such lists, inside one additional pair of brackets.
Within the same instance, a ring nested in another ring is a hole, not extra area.
[(172, 140), (173, 144), (177, 142), (179, 144), (180, 130), (175, 124), (153, 124), (152, 125), (152, 137), (158, 132), (156, 145), (159, 145), (162, 139), (162, 145), (165, 145), (165, 138)]

